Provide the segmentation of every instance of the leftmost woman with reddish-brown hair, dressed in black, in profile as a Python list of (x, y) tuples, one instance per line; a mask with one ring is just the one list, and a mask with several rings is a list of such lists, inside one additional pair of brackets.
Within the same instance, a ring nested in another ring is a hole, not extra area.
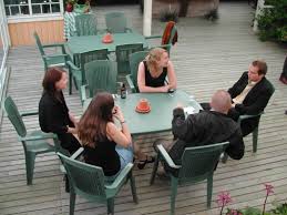
[(49, 69), (43, 79), (43, 94), (39, 102), (39, 122), (43, 132), (58, 134), (61, 146), (71, 154), (81, 145), (74, 137), (76, 121), (69, 112), (62, 90), (66, 88), (66, 73), (60, 68)]

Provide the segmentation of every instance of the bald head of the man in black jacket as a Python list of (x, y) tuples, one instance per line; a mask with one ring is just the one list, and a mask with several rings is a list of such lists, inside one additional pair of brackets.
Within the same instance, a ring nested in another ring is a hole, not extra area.
[(232, 108), (229, 93), (225, 90), (216, 91), (212, 96), (211, 108), (214, 111), (227, 114), (228, 110)]

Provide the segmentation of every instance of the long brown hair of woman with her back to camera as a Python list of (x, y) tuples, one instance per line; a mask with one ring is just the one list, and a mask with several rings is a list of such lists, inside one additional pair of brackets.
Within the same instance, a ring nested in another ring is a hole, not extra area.
[(98, 93), (78, 124), (78, 134), (83, 145), (94, 147), (98, 141), (106, 140), (106, 123), (113, 122), (114, 100), (107, 92)]

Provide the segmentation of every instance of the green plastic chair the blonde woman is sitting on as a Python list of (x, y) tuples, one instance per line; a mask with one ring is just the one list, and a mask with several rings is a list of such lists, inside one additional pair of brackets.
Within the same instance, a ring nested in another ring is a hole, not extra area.
[(139, 92), (139, 88), (137, 88), (139, 64), (145, 59), (147, 54), (148, 54), (148, 51), (139, 51), (130, 54), (131, 74), (127, 74), (125, 79), (133, 93)]

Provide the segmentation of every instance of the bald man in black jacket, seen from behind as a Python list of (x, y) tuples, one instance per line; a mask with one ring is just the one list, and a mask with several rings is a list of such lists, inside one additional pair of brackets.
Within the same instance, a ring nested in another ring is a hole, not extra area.
[(185, 119), (183, 108), (174, 109), (172, 131), (175, 142), (166, 143), (163, 140), (158, 140), (154, 144), (163, 144), (175, 164), (178, 165), (181, 164), (181, 157), (185, 147), (225, 141), (229, 142), (225, 152), (232, 158), (240, 160), (244, 155), (245, 146), (239, 125), (227, 116), (232, 108), (229, 93), (224, 90), (216, 91), (212, 96), (211, 106), (211, 111), (191, 114), (187, 119)]

